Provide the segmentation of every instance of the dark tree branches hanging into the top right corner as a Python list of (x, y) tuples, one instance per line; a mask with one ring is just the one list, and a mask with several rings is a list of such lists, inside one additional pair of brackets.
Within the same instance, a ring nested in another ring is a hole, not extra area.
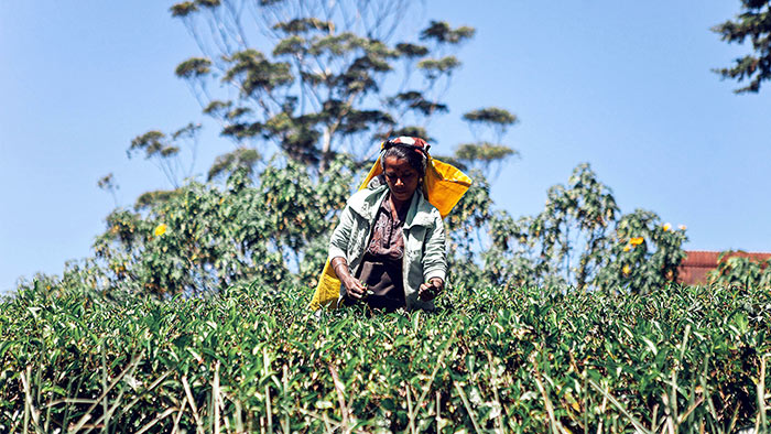
[(758, 93), (761, 83), (771, 78), (771, 1), (741, 0), (741, 7), (742, 11), (735, 20), (714, 26), (713, 32), (728, 43), (742, 44), (749, 37), (753, 53), (737, 58), (731, 67), (714, 70), (723, 78), (739, 83), (749, 80), (735, 93)]

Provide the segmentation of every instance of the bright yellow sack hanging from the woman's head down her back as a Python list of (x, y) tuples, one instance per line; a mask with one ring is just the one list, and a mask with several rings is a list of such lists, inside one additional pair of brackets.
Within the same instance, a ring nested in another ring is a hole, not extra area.
[[(383, 172), (380, 165), (380, 158), (374, 162), (372, 169), (365, 181), (359, 186), (359, 189), (367, 188), (369, 182)], [(442, 218), (447, 217), (453, 207), (460, 200), (469, 186), (471, 178), (466, 176), (455, 166), (434, 160), (428, 156), (426, 164), (425, 177), (423, 178), (423, 193), (428, 198), (431, 205), (438, 209)], [(337, 307), (337, 299), (340, 295), (340, 280), (337, 279), (335, 269), (329, 263), (329, 259), (324, 264), (324, 271), (318, 278), (316, 292), (313, 294), (313, 300), (308, 307), (313, 311), (325, 307)]]

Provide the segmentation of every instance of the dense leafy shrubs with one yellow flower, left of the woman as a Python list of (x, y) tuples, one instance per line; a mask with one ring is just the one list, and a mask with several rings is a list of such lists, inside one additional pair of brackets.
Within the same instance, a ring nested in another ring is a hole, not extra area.
[(240, 167), (225, 188), (188, 183), (142, 195), (135, 211), (108, 216), (108, 230), (95, 242), (101, 289), (162, 297), (210, 293), (242, 281), (278, 284), (290, 278), (290, 267), (312, 284), (308, 268), (322, 269), (319, 243), (328, 241), (332, 217), (352, 184), (349, 160), (338, 158), (329, 169), (313, 177), (291, 159), (274, 159), (257, 183)]

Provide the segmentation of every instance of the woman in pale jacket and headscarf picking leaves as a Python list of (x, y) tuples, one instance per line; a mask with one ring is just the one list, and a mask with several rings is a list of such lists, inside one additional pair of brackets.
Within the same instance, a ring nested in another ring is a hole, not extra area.
[(427, 148), (417, 138), (389, 140), (383, 174), (348, 199), (329, 242), (341, 302), (434, 308), (447, 262), (442, 216), (422, 192)]

